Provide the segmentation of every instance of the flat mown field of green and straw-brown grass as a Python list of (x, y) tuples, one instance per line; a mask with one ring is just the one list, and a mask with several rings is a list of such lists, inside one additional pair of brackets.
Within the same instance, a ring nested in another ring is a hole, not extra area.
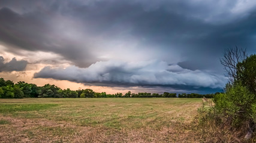
[(0, 100), (0, 142), (198, 142), (201, 99)]

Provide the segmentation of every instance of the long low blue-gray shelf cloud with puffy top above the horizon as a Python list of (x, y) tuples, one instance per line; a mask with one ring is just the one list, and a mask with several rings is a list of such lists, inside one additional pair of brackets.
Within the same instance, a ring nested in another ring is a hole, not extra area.
[(101, 86), (167, 86), (182, 88), (223, 88), (225, 77), (200, 70), (182, 69), (177, 64), (168, 66), (164, 61), (100, 61), (88, 68), (76, 66), (61, 68), (44, 67), (35, 78), (53, 78)]

